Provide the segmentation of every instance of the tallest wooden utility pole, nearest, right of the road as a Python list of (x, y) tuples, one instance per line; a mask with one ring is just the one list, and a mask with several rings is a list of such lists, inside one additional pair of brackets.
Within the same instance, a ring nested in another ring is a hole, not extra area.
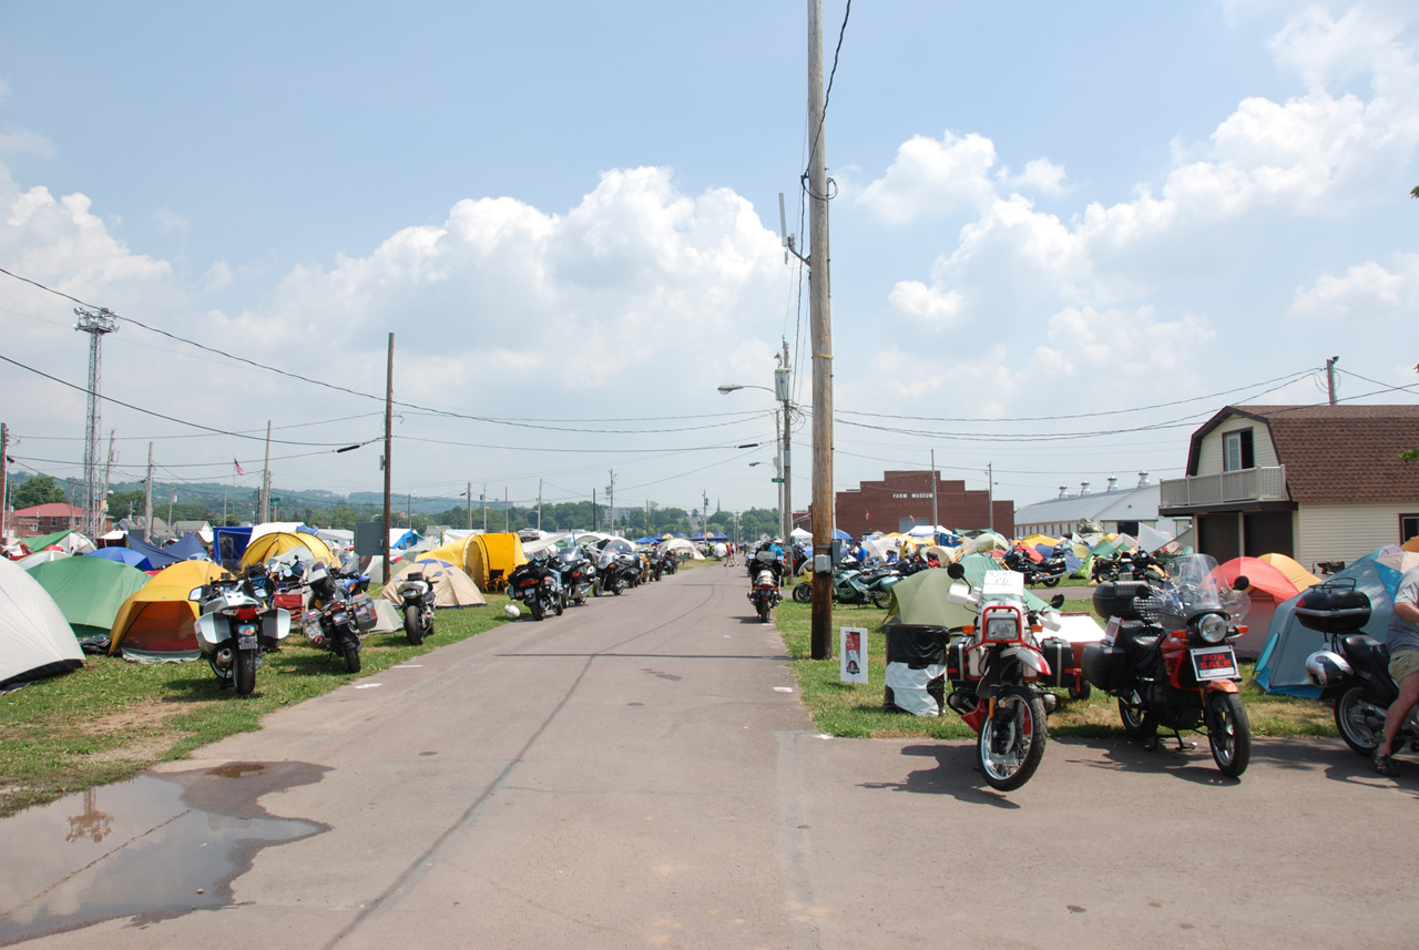
[[(833, 655), (833, 320), (829, 306), (823, 0), (807, 0), (809, 346), (813, 357), (813, 659)], [(783, 482), (788, 486), (788, 479)], [(789, 516), (792, 522), (792, 515)], [(819, 563), (823, 559), (823, 564)], [(820, 566), (823, 570), (819, 570)]]

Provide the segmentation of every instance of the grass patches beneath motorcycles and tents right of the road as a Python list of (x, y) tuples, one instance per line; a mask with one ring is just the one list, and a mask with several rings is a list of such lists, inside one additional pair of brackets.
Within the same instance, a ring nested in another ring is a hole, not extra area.
[[(1036, 591), (1039, 593), (1039, 591)], [(1046, 591), (1053, 596), (1053, 591)], [(1091, 611), (1087, 600), (1066, 600), (1066, 611)], [(939, 717), (918, 717), (883, 712), (883, 685), (887, 675), (887, 635), (881, 622), (885, 611), (876, 607), (833, 605), (833, 659), (809, 659), (812, 655), (812, 608), (807, 604), (785, 601), (775, 608), (779, 632), (789, 654), (797, 661), (793, 672), (803, 702), (807, 703), (817, 729), (830, 736), (901, 737), (931, 736), (935, 739), (972, 739), (975, 733), (961, 717), (946, 710)], [(839, 679), (837, 628), (866, 627), (870, 683), (844, 683)], [(1242, 698), (1257, 736), (1335, 736), (1331, 708), (1310, 699), (1271, 696), (1253, 682), (1254, 664), (1242, 664)], [(948, 685), (949, 692), (949, 685)], [(1060, 691), (1063, 693), (1063, 691)], [(1050, 716), (1050, 734), (1103, 737), (1122, 736), (1118, 703), (1111, 696), (1094, 691), (1087, 700), (1069, 700)]]

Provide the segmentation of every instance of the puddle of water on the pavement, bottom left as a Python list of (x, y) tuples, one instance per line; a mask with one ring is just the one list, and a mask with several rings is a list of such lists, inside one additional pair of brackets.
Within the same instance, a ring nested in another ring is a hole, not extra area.
[(328, 829), (271, 817), (261, 795), (319, 781), (325, 771), (233, 763), (149, 773), (0, 821), (0, 944), (231, 903), (231, 882), (258, 851)]

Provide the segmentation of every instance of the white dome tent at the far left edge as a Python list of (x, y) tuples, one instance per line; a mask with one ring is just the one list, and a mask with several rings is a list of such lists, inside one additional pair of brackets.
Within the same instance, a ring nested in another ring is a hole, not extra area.
[(84, 651), (54, 598), (0, 557), (0, 691), (82, 665)]

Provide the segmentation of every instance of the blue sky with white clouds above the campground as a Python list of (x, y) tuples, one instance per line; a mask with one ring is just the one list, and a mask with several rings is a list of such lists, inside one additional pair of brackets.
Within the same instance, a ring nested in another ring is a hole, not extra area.
[[(1337, 356), (1341, 400), (1413, 404), (1412, 3), (823, 0), (823, 34), (837, 489), (1178, 478)], [(277, 489), (380, 491), (393, 335), (396, 496), (772, 508), (786, 342), (803, 510), (810, 128), (806, 3), (0, 4), (10, 455), (82, 478), (82, 302), (115, 482), (152, 442), (253, 488), (270, 423)]]

